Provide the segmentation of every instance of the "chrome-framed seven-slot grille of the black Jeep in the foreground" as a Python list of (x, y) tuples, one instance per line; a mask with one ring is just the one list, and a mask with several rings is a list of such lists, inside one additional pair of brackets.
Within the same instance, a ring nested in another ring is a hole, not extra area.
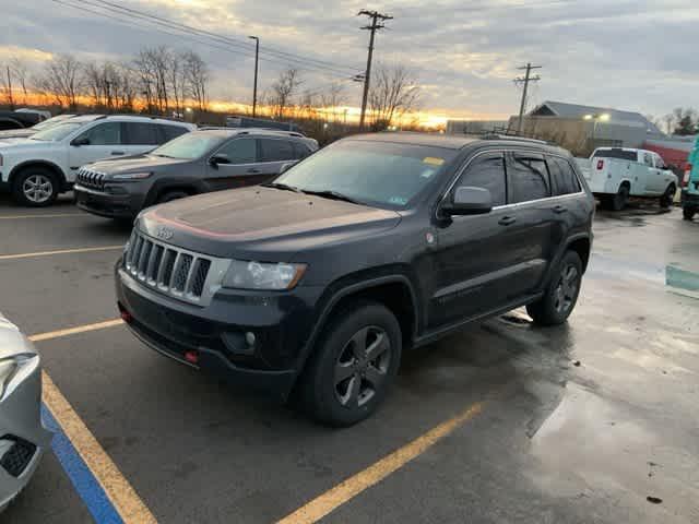
[(134, 229), (123, 265), (141, 283), (180, 300), (199, 303), (212, 259), (153, 241)]

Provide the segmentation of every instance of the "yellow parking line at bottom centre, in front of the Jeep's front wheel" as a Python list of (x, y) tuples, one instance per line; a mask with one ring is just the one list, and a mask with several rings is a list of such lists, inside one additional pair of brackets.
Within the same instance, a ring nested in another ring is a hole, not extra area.
[(330, 491), (325, 491), (291, 515), (279, 521), (277, 524), (310, 524), (320, 521), (348, 500), (380, 483), (393, 472), (423, 454), (459, 426), (478, 415), (482, 410), (483, 403), (472, 405), (461, 414), (440, 424), (422, 437), (418, 437), (403, 448), (370, 465), (363, 472), (347, 478)]

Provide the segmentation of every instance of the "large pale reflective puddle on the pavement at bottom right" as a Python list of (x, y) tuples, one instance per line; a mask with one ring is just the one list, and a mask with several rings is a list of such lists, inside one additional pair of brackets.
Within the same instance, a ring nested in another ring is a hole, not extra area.
[(653, 497), (663, 500), (659, 511), (689, 513), (689, 522), (699, 516), (692, 509), (698, 458), (648, 429), (625, 404), (577, 384), (566, 385), (560, 404), (532, 437), (531, 454), (537, 465), (530, 476), (544, 492), (587, 493), (633, 508)]

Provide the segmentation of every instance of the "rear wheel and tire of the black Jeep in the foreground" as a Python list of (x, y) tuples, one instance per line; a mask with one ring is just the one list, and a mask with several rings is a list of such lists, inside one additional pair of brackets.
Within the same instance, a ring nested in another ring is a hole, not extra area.
[[(574, 275), (570, 272), (573, 271)], [(568, 320), (578, 302), (582, 283), (582, 261), (574, 251), (564, 254), (545, 295), (526, 306), (526, 312), (540, 325), (558, 325)]]

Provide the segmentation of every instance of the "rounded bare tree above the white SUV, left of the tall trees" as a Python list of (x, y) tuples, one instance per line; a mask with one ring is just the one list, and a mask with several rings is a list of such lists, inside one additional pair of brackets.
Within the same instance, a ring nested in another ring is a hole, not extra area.
[(46, 62), (36, 79), (39, 93), (54, 98), (56, 104), (74, 110), (83, 88), (83, 67), (71, 55), (58, 55)]

